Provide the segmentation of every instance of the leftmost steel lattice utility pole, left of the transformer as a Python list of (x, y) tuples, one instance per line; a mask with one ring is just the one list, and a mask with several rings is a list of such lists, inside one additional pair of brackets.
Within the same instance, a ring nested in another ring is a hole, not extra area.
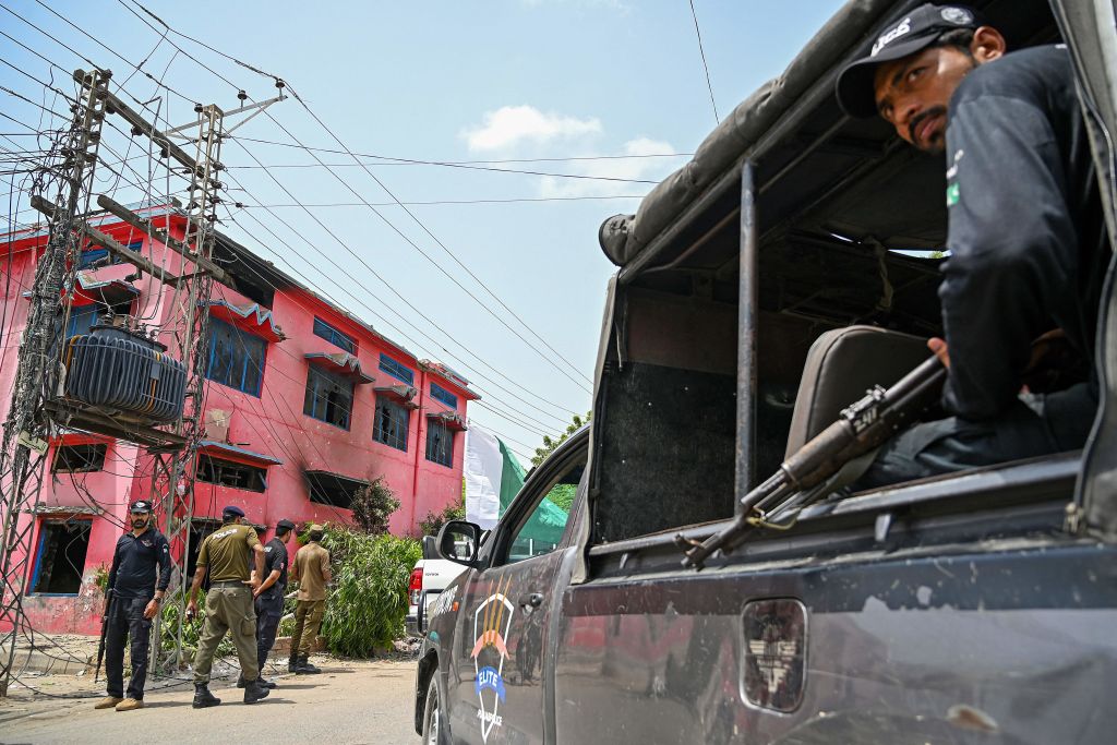
[(111, 76), (108, 70), (97, 69), (82, 73), (79, 78), (75, 74), (82, 88), (71, 106), (74, 121), (60, 150), (57, 209), (49, 216), (49, 238), (35, 270), (11, 408), (3, 424), (0, 446), (3, 526), (0, 544), (0, 697), (8, 695), (17, 641), (25, 632), (22, 600), (27, 564), (51, 427), (44, 403), (55, 395), (59, 381), (61, 329), (58, 314), (64, 309), (63, 293), (73, 287), (77, 271), (80, 231), (76, 228), (76, 216), (78, 206), (83, 206), (83, 212), (88, 211)]

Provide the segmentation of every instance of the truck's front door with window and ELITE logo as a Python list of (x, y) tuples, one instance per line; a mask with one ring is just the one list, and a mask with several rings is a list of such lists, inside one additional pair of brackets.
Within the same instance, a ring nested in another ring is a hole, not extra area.
[(546, 621), (588, 437), (556, 451), (496, 527), (484, 569), (464, 586), (451, 656), (455, 742), (542, 743)]

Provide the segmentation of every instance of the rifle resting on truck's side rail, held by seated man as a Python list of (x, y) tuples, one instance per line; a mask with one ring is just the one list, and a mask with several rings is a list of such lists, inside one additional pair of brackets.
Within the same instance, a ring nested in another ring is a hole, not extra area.
[(714, 552), (732, 550), (753, 528), (786, 529), (794, 525), (806, 505), (833, 490), (830, 481), (846, 464), (909, 427), (939, 395), (945, 381), (946, 367), (932, 356), (891, 388), (869, 389), (860, 401), (842, 410), (838, 421), (742, 497), (742, 509), (729, 527), (701, 542), (676, 535), (676, 545), (687, 548), (682, 566), (701, 570)]

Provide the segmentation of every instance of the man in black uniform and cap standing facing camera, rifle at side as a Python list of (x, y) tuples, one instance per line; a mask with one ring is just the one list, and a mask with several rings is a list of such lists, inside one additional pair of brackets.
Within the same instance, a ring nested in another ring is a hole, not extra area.
[[(151, 525), (151, 503), (144, 499), (130, 508), (132, 531), (116, 541), (108, 571), (105, 614), (105, 677), (107, 696), (94, 708), (131, 711), (143, 708), (143, 686), (147, 679), (151, 620), (159, 612), (163, 593), (171, 582), (171, 548)], [(156, 577), (156, 567), (159, 575)], [(124, 639), (132, 640), (132, 679), (124, 698)]]

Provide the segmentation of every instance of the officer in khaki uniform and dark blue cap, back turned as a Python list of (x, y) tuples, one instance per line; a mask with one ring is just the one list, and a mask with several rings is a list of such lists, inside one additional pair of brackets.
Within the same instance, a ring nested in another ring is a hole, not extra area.
[[(241, 677), (245, 680), (245, 703), (255, 704), (271, 693), (260, 684), (256, 661), (256, 612), (252, 610), (252, 591), (260, 586), (264, 576), (264, 546), (256, 537), (256, 529), (245, 525), (245, 510), (226, 507), (221, 513), (221, 527), (206, 536), (198, 552), (198, 570), (190, 585), (187, 617), (198, 613), (198, 589), (206, 572), (210, 575), (210, 590), (206, 595), (206, 625), (198, 640), (194, 656), (195, 709), (217, 706), (221, 699), (209, 690), (213, 655), (228, 631), (237, 647)], [(255, 557), (256, 574), (248, 569), (249, 556)]]

